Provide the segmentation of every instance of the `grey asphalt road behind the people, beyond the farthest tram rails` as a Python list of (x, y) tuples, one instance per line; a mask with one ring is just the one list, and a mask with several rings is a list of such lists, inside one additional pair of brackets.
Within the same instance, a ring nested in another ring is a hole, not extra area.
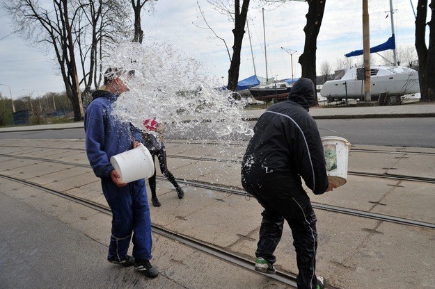
[[(434, 118), (384, 118), (384, 119), (317, 119), (320, 134), (342, 135), (354, 145), (386, 145), (404, 147), (435, 147)], [(249, 123), (251, 128), (255, 122)], [(336, 131), (333, 133), (328, 130)], [(84, 138), (83, 129), (47, 131), (22, 131), (0, 133), (0, 139), (65, 139)], [(215, 139), (208, 129), (198, 128), (187, 133), (171, 126), (166, 127), (166, 139)], [(246, 135), (230, 135), (228, 138), (248, 140)]]

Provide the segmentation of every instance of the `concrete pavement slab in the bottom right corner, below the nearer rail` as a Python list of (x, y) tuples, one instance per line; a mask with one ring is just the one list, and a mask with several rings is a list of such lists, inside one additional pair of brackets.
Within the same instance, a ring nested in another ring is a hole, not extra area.
[(434, 232), (381, 223), (343, 265), (333, 278), (341, 288), (435, 288)]

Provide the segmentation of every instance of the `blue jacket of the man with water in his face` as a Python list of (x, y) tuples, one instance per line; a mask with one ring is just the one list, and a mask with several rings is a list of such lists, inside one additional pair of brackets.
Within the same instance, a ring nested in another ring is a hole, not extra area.
[(143, 140), (139, 129), (113, 117), (112, 106), (118, 95), (97, 90), (92, 96), (84, 117), (86, 154), (95, 176), (102, 178), (113, 170), (111, 156), (132, 149), (134, 140)]

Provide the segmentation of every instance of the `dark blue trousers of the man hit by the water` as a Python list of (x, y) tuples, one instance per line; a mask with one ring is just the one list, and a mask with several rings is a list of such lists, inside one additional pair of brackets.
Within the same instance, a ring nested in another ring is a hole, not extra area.
[(133, 239), (136, 262), (150, 260), (151, 217), (145, 179), (118, 188), (110, 177), (106, 177), (102, 178), (101, 185), (113, 214), (108, 258), (116, 257), (118, 261), (124, 259)]

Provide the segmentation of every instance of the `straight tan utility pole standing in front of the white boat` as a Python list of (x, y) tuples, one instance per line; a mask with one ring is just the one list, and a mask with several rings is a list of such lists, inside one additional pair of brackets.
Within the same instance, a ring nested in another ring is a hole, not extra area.
[(370, 97), (370, 23), (368, 0), (363, 0), (363, 57), (364, 57), (364, 101)]

